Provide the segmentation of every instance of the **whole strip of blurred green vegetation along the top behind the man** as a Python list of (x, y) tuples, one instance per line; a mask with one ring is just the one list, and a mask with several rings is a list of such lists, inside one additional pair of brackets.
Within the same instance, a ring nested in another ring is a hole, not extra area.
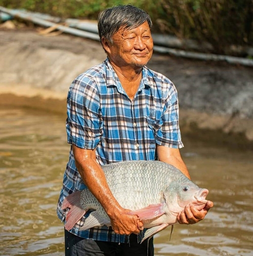
[(253, 44), (252, 0), (0, 0), (7, 8), (79, 19), (97, 19), (105, 8), (129, 3), (150, 14), (154, 30), (209, 42), (216, 53)]

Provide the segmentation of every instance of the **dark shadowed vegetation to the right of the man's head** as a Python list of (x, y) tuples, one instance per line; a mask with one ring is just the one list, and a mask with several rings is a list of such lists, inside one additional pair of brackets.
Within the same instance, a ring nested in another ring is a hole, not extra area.
[(179, 38), (209, 42), (216, 53), (253, 44), (252, 0), (163, 0), (162, 7), (159, 27)]

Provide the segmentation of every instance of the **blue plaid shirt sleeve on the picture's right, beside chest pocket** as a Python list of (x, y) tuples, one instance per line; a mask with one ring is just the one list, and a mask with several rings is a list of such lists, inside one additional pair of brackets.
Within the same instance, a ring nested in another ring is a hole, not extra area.
[[(181, 132), (179, 128), (179, 104), (178, 93), (174, 84), (170, 81), (162, 86), (166, 94), (164, 108), (160, 117), (160, 129), (156, 132), (156, 143), (170, 148), (183, 148)], [(166, 88), (166, 90), (164, 89)]]

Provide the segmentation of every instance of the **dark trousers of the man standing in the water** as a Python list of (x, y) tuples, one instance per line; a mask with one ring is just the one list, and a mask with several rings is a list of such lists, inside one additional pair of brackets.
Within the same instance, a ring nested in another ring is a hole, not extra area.
[(130, 235), (130, 243), (115, 243), (85, 239), (65, 230), (65, 256), (154, 256), (153, 238), (137, 242)]

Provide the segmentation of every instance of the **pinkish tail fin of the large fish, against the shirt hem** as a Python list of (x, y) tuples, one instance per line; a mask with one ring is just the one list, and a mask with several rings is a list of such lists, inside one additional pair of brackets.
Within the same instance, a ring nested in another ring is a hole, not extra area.
[(83, 209), (80, 204), (81, 191), (76, 191), (68, 195), (63, 203), (62, 209), (70, 208), (65, 217), (65, 229), (69, 231), (75, 224), (80, 220), (80, 218), (85, 215), (87, 209)]

